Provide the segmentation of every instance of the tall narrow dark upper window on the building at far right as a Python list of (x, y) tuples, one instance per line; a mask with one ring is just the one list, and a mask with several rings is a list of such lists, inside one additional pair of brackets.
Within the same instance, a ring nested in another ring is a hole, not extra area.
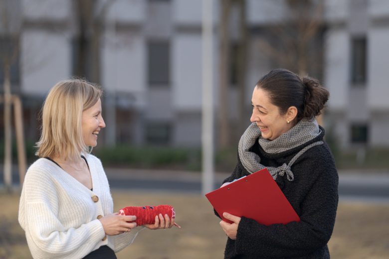
[(351, 80), (353, 84), (366, 83), (366, 37), (356, 37), (352, 39), (351, 53)]

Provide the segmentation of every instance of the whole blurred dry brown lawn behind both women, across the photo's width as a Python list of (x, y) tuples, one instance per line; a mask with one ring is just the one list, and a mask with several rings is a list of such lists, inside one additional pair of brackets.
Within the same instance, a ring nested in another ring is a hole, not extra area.
[[(17, 223), (18, 194), (0, 193), (0, 259), (31, 258)], [(144, 230), (117, 254), (119, 259), (218, 259), (226, 237), (212, 208), (200, 195), (114, 192), (115, 210), (124, 206), (171, 204), (182, 229)], [(329, 243), (332, 259), (389, 258), (389, 204), (341, 203)]]

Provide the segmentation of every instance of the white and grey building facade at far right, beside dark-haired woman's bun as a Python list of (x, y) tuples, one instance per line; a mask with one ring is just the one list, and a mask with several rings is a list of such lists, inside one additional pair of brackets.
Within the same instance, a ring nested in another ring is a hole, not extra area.
[(388, 147), (389, 2), (326, 1), (326, 118), (343, 147)]

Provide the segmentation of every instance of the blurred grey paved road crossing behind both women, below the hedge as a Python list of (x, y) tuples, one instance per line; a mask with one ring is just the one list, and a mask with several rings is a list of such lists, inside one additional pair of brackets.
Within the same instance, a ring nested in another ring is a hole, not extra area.
[[(105, 170), (110, 186), (114, 190), (177, 193), (200, 193), (201, 191), (199, 172), (117, 168)], [(0, 188), (3, 187), (1, 171)], [(389, 172), (340, 171), (339, 175), (341, 201), (389, 204)], [(214, 189), (218, 188), (227, 176), (227, 173), (215, 173)], [(18, 183), (18, 178), (17, 172), (14, 171), (14, 184)]]

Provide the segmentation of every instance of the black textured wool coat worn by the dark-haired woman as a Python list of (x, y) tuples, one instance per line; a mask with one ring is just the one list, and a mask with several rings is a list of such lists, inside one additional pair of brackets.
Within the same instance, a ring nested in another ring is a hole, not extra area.
[[(316, 138), (281, 153), (266, 153), (258, 141), (250, 151), (261, 157), (264, 166), (288, 163), (305, 146), (323, 140), (324, 129)], [(225, 259), (327, 259), (338, 206), (338, 173), (328, 145), (313, 146), (292, 165), (294, 180), (278, 175), (276, 183), (300, 217), (300, 222), (265, 226), (241, 217), (236, 240), (228, 238)], [(249, 173), (239, 157), (236, 168), (223, 182)]]

